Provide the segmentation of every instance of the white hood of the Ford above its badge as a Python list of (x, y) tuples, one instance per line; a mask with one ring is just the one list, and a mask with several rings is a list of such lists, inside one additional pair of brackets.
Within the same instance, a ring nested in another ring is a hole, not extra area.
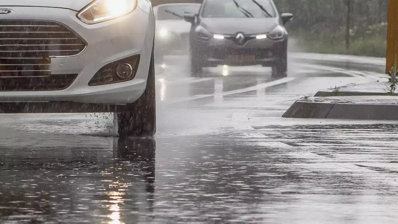
[(80, 11), (93, 0), (0, 0), (0, 7), (7, 6), (39, 6), (52, 8), (67, 8)]

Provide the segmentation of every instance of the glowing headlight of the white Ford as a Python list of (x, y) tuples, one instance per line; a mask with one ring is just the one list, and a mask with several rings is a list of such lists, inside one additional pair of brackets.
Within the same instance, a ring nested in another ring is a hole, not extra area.
[(77, 17), (86, 24), (97, 24), (125, 16), (135, 10), (136, 0), (95, 0), (84, 7)]

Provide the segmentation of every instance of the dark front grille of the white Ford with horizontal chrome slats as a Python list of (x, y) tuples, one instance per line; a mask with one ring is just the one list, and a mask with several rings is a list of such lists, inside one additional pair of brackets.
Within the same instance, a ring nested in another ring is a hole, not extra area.
[(81, 37), (57, 22), (0, 20), (0, 91), (68, 87), (76, 75), (51, 75), (51, 57), (78, 55), (85, 48)]

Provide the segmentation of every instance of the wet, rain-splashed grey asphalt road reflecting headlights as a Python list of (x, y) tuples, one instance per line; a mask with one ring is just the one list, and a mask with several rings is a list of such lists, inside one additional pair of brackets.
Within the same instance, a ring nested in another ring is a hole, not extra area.
[(381, 70), (304, 60), (280, 80), (191, 78), (166, 57), (153, 140), (118, 139), (110, 114), (0, 114), (0, 223), (395, 223), (396, 122), (281, 118)]

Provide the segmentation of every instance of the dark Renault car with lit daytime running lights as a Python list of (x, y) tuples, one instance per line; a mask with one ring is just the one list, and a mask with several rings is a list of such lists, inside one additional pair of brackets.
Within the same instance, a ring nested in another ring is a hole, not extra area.
[(287, 75), (284, 25), (293, 15), (279, 16), (272, 0), (205, 0), (199, 14), (185, 14), (192, 23), (192, 74), (217, 65), (272, 67), (274, 78)]

